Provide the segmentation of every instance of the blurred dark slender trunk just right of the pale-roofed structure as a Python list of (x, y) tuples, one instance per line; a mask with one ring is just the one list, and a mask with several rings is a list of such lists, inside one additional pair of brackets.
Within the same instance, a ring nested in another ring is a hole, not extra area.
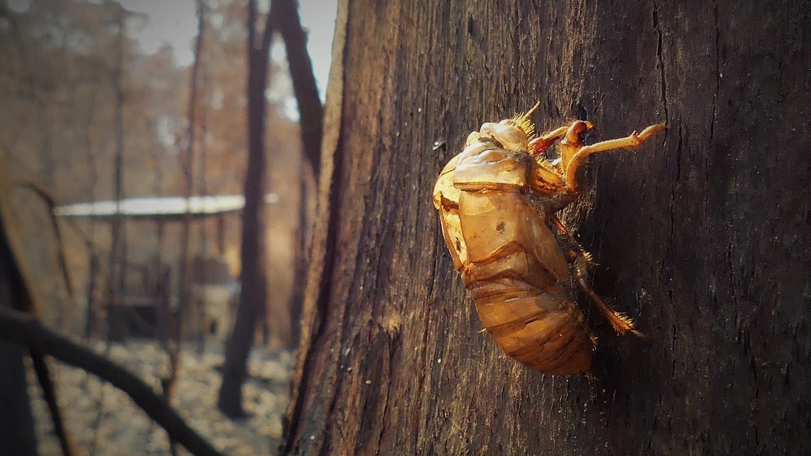
[(264, 181), (267, 158), (264, 151), (264, 118), (267, 103), (268, 50), (272, 19), (268, 14), (260, 40), (256, 39), (256, 2), (248, 1), (248, 81), (247, 124), (248, 163), (245, 174), (245, 207), (242, 209), (242, 270), (240, 295), (234, 329), (225, 345), (225, 370), (217, 407), (227, 416), (245, 415), (242, 410), (242, 383), (245, 381), (248, 353), (253, 346), (256, 323), (264, 315), (267, 277), (264, 275)]

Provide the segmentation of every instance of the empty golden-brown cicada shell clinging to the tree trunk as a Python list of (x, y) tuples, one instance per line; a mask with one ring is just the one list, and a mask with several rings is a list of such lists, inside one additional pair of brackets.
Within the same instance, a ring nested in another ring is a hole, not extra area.
[[(440, 173), (434, 205), (453, 265), (501, 350), (540, 372), (590, 372), (596, 339), (577, 287), (617, 332), (642, 334), (590, 289), (590, 256), (555, 213), (577, 198), (577, 171), (590, 154), (637, 146), (664, 125), (586, 146), (581, 134), (592, 126), (582, 121), (534, 137), (537, 107), (470, 133)], [(558, 140), (553, 165), (542, 153)]]

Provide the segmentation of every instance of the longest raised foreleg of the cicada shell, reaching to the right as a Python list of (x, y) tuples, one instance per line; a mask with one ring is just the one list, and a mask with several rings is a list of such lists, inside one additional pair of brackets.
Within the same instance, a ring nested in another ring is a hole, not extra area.
[[(566, 138), (561, 141), (560, 166), (561, 169), (564, 170), (566, 187), (568, 187), (569, 191), (572, 192), (577, 192), (577, 170), (579, 170), (580, 167), (586, 163), (586, 159), (588, 159), (591, 154), (607, 152), (617, 148), (637, 147), (650, 138), (650, 136), (653, 136), (654, 133), (663, 131), (665, 125), (664, 123), (657, 123), (647, 127), (645, 130), (642, 130), (642, 133), (639, 133), (638, 135), (637, 132), (634, 131), (629, 136), (625, 136), (624, 138), (600, 141), (599, 143), (584, 146), (580, 140), (580, 134), (589, 128), (590, 123), (578, 125), (578, 123), (575, 122), (571, 127), (569, 127), (569, 131), (566, 133)], [(572, 133), (572, 135), (569, 133)], [(573, 137), (570, 138), (569, 136)], [(572, 153), (573, 146), (579, 146), (577, 147), (577, 151), (574, 153)]]

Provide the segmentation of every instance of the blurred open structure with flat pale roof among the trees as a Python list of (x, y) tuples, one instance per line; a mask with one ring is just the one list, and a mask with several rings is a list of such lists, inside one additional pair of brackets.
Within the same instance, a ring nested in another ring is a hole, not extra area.
[[(278, 196), (268, 193), (265, 203), (277, 202)], [(224, 251), (223, 239), (225, 224), (223, 216), (237, 213), (245, 204), (242, 195), (192, 196), (131, 198), (121, 200), (93, 201), (58, 206), (54, 213), (58, 217), (89, 218), (97, 222), (112, 222), (116, 217), (125, 221), (151, 222), (156, 224), (184, 222), (217, 217), (218, 252)], [(182, 322), (182, 334), (188, 338), (194, 335), (213, 335), (222, 340), (232, 320), (230, 296), (235, 293), (233, 277), (228, 275), (222, 260), (210, 257), (195, 257), (192, 261), (189, 293), (178, 292), (178, 296), (188, 296), (193, 303), (187, 318)], [(105, 325), (109, 337), (121, 340), (130, 336), (160, 338), (168, 330), (174, 314), (177, 299), (172, 294), (173, 268), (155, 258), (149, 265), (127, 263), (123, 267), (122, 287), (108, 303), (105, 303)], [(209, 301), (212, 304), (209, 306)], [(225, 302), (225, 304), (223, 303)], [(175, 303), (175, 304), (173, 304)], [(210, 307), (210, 308), (209, 308)]]

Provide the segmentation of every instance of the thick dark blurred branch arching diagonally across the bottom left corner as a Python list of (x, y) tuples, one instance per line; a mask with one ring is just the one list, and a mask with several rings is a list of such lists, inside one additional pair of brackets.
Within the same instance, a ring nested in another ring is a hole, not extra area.
[(144, 410), (191, 454), (221, 455), (138, 376), (90, 349), (54, 333), (35, 317), (9, 308), (0, 308), (0, 338), (53, 356), (63, 363), (82, 368), (101, 380), (109, 381), (111, 385), (127, 393), (135, 405)]

